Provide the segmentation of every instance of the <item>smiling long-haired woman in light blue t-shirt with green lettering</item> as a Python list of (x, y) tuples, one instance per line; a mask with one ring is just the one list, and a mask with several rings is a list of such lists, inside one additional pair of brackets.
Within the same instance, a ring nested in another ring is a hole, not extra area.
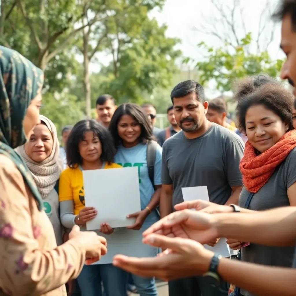
[[(149, 179), (146, 154), (147, 144), (155, 139), (147, 115), (136, 104), (123, 104), (115, 111), (109, 129), (117, 149), (115, 162), (123, 167), (138, 167), (141, 211), (131, 215), (136, 218), (136, 222), (128, 228), (139, 231), (141, 234), (159, 220), (156, 207), (160, 200), (162, 148), (157, 145), (154, 189)], [(147, 257), (154, 257), (158, 253), (158, 248), (144, 244), (141, 247), (145, 248)], [(154, 278), (142, 278), (136, 275), (132, 277), (140, 296), (157, 295)]]

